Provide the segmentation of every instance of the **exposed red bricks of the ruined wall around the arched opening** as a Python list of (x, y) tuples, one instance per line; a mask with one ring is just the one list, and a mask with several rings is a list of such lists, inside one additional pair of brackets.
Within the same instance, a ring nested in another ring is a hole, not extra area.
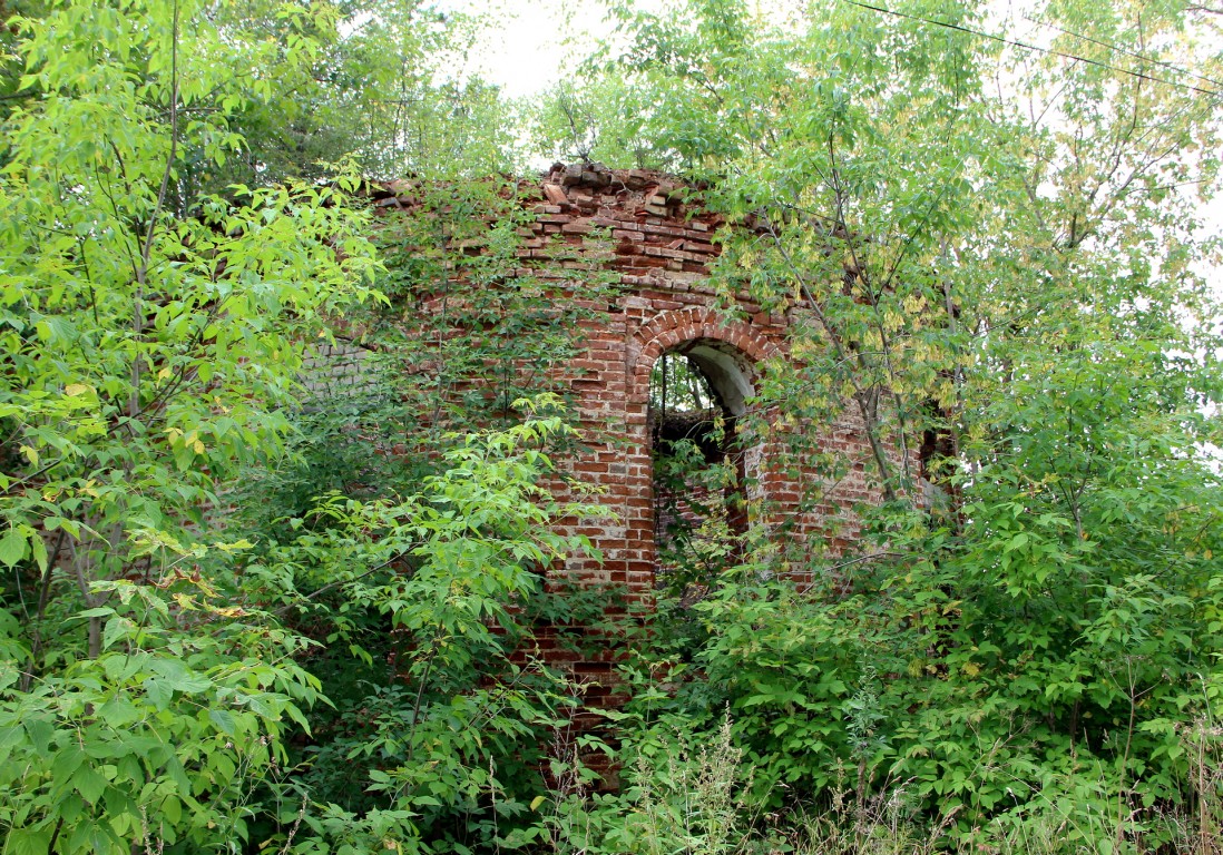
[[(569, 384), (585, 439), (592, 448), (558, 461), (576, 487), (571, 490), (560, 487), (559, 477), (549, 478), (545, 486), (552, 486), (559, 497), (576, 495), (583, 500), (591, 487), (602, 486), (607, 492), (589, 500), (618, 515), (616, 520), (569, 519), (556, 524), (558, 531), (588, 537), (603, 552), (604, 561), (600, 565), (589, 558), (572, 557), (564, 566), (550, 569), (549, 577), (564, 576), (575, 583), (624, 583), (629, 599), (645, 605), (653, 602), (656, 560), (653, 465), (647, 431), (652, 366), (668, 350), (695, 339), (712, 339), (739, 350), (751, 367), (786, 353), (791, 323), (783, 314), (769, 314), (747, 295), (736, 298), (739, 317), (747, 320), (728, 323), (714, 308), (714, 287), (704, 276), (706, 264), (722, 251), (712, 240), (720, 220), (701, 212), (695, 212), (700, 220), (669, 217), (681, 209), (692, 213), (674, 202), (667, 203), (668, 198), (675, 198), (670, 194), (674, 188), (674, 182), (649, 172), (580, 168), (550, 172), (536, 193), (536, 199), (544, 198), (545, 203), (525, 204), (534, 215), (528, 226), (519, 230), (523, 261), (514, 273), (547, 280), (548, 298), (574, 301), (591, 313), (580, 325), (585, 352), (563, 366), (556, 379), (564, 378)], [(656, 190), (662, 199), (649, 198)], [(379, 213), (379, 217), (395, 215), (399, 214)], [(592, 229), (610, 229), (615, 251), (609, 252), (605, 242), (586, 239)], [(482, 251), (479, 246), (470, 250), (477, 254)], [(615, 296), (578, 302), (558, 273), (554, 254), (563, 254), (565, 261), (560, 265), (578, 276), (592, 270), (612, 272), (619, 283)], [(459, 280), (455, 284), (462, 285)], [(432, 306), (434, 312), (440, 309), (438, 300)], [(793, 323), (810, 323), (810, 318), (795, 312)], [(523, 376), (531, 368), (523, 366)], [(475, 388), (478, 385), (467, 384), (462, 391)], [(766, 416), (775, 421), (778, 413)], [(789, 449), (789, 437), (807, 439), (810, 450), (800, 457)], [(895, 454), (899, 460), (899, 450)], [(753, 478), (748, 494), (752, 519), (786, 526), (786, 543), (795, 549), (839, 555), (857, 536), (854, 505), (879, 499), (878, 487), (867, 477), (870, 459), (861, 416), (849, 409), (834, 424), (796, 424), (774, 434), (746, 455), (745, 467)], [(547, 632), (536, 642), (541, 656), (549, 662), (600, 683), (588, 687), (589, 700), (600, 705), (616, 702), (619, 689), (612, 684), (610, 664), (615, 657), (612, 648), (598, 657), (600, 661), (589, 662), (563, 651)]]

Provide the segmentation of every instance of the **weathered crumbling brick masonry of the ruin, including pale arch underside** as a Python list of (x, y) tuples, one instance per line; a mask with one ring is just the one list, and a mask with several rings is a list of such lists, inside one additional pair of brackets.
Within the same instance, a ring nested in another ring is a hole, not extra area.
[[(389, 185), (375, 204), (385, 212), (411, 207), (408, 193), (406, 185)], [(599, 502), (616, 519), (598, 525), (570, 521), (572, 531), (591, 538), (602, 560), (572, 559), (563, 572), (624, 586), (631, 598), (648, 604), (656, 572), (647, 429), (654, 362), (664, 352), (687, 353), (739, 415), (750, 405), (766, 363), (786, 358), (795, 319), (764, 312), (745, 295), (735, 298), (735, 312), (717, 308), (709, 265), (719, 254), (715, 236), (723, 223), (686, 203), (684, 188), (673, 180), (637, 170), (556, 165), (527, 196), (536, 218), (520, 251), (523, 273), (548, 276), (558, 263), (574, 269), (593, 264), (613, 272), (619, 285), (615, 296), (591, 307), (583, 323), (585, 352), (570, 366), (570, 385), (591, 445), (563, 464), (578, 481), (602, 488)], [(563, 253), (572, 261), (559, 262)], [(755, 415), (764, 416), (758, 423), (770, 422), (768, 412)], [(879, 499), (867, 478), (870, 445), (849, 415), (833, 424), (788, 429), (812, 432), (805, 437), (810, 459), (835, 455), (845, 464), (843, 472), (829, 478), (827, 470), (795, 459), (785, 450), (786, 428), (778, 423), (740, 437), (750, 525), (775, 528), (789, 544), (810, 548), (818, 542), (835, 554), (852, 537), (852, 506)], [(593, 673), (607, 665), (575, 667)]]

